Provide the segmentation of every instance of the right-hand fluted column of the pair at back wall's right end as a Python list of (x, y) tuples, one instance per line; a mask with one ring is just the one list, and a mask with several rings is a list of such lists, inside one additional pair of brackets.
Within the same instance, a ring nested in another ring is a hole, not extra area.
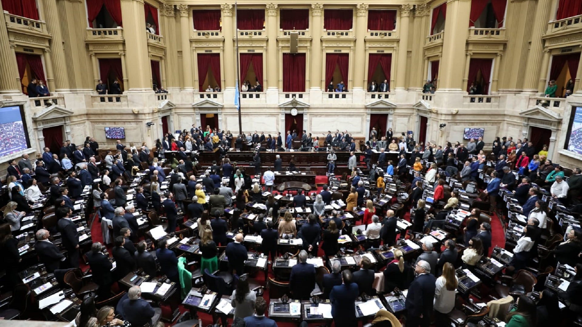
[(428, 31), (428, 16), (430, 15), (430, 6), (422, 3), (414, 9), (414, 27), (412, 42), (412, 60), (410, 65), (410, 75), (408, 80), (409, 89), (420, 91), (424, 85), (426, 70), (423, 69), (421, 62), (424, 62), (424, 40)]

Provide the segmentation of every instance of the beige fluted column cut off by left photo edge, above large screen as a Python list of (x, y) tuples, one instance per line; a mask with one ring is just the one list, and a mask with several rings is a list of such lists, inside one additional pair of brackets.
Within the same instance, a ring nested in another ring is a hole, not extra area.
[(2, 3), (0, 2), (0, 94), (22, 93), (20, 90), (20, 75), (16, 65), (14, 49), (11, 49), (6, 30)]

